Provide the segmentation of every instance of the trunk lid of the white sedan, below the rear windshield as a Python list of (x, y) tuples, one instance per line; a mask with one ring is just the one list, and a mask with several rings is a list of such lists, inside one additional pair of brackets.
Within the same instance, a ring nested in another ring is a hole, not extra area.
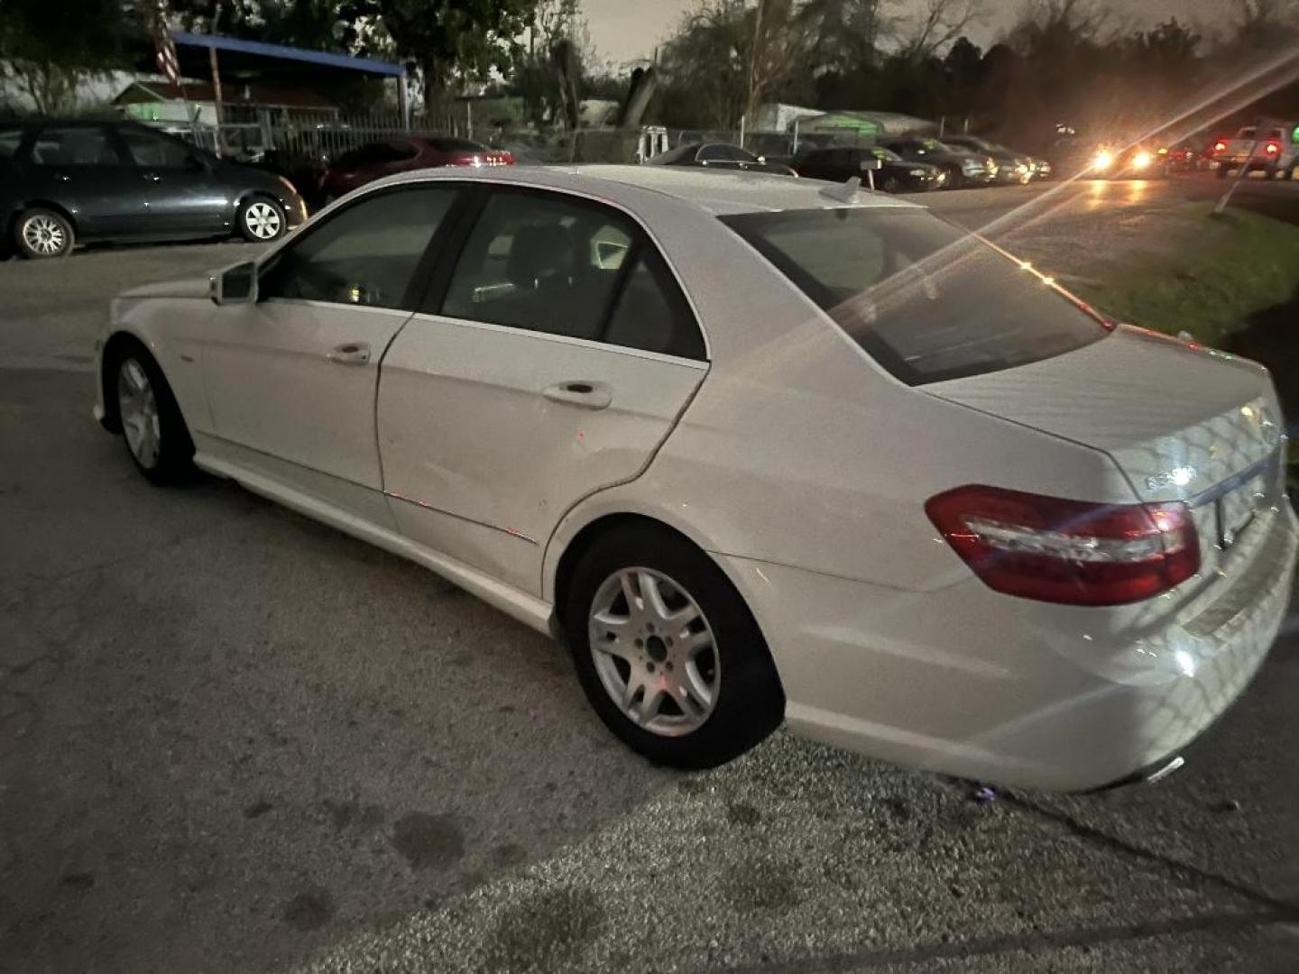
[(1195, 500), (1269, 460), (1282, 434), (1263, 366), (1129, 326), (1053, 358), (924, 388), (1104, 451), (1144, 501)]

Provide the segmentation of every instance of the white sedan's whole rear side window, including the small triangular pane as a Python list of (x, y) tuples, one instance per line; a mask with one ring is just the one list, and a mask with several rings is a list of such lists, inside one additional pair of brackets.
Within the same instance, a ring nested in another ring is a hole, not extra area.
[(572, 196), (494, 192), (439, 313), (703, 357), (699, 327), (653, 244), (625, 213)]

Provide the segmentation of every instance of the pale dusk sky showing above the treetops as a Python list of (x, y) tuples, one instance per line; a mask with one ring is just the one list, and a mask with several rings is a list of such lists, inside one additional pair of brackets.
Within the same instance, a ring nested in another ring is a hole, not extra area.
[[(902, 6), (920, 8), (922, 0), (899, 0)], [(655, 45), (672, 35), (686, 10), (699, 0), (582, 0), (582, 10), (591, 25), (591, 43), (601, 60), (614, 62), (650, 57)], [(1124, 17), (1155, 23), (1168, 17), (1199, 21), (1215, 27), (1224, 18), (1224, 0), (1111, 0)], [(986, 0), (987, 19), (970, 30), (970, 36), (985, 47), (1022, 9), (1022, 0)]]

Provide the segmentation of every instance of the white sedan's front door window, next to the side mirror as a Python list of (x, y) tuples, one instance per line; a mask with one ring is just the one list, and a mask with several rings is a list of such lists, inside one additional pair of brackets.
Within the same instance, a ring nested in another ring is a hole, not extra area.
[(421, 187), (369, 196), (279, 252), (262, 273), (262, 297), (407, 308), (420, 258), (456, 191)]

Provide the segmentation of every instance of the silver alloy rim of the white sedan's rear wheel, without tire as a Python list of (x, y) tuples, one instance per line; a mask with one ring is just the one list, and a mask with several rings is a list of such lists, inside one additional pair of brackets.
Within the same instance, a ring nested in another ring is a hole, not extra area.
[(672, 738), (712, 714), (721, 661), (708, 619), (679, 583), (646, 568), (613, 573), (591, 600), (588, 630), (600, 683), (638, 726)]

